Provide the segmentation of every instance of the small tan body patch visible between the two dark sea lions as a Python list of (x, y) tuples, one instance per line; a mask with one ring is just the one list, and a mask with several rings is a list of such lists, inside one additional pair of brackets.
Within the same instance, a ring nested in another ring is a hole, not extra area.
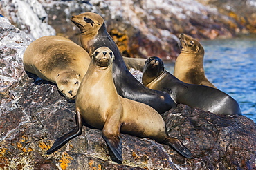
[(140, 72), (143, 72), (145, 61), (147, 60), (143, 58), (130, 58), (126, 56), (123, 56), (122, 59), (124, 59), (125, 65), (128, 70), (134, 68), (135, 70), (139, 70)]

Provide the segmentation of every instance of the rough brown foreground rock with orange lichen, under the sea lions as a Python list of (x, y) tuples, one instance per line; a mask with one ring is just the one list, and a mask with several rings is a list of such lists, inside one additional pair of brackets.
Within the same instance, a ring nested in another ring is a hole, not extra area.
[(194, 159), (167, 145), (122, 134), (118, 164), (101, 131), (83, 127), (60, 150), (46, 155), (56, 138), (75, 127), (75, 103), (51, 83), (34, 83), (22, 65), (31, 40), (0, 17), (0, 169), (256, 169), (256, 125), (245, 116), (217, 116), (185, 105), (163, 114), (168, 132)]

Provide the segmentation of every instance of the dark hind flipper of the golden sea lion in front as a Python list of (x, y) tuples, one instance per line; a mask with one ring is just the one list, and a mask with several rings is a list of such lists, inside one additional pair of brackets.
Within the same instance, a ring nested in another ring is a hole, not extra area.
[(175, 151), (180, 153), (185, 158), (193, 158), (190, 150), (187, 147), (185, 147), (179, 139), (171, 138), (170, 136), (168, 136), (163, 141), (163, 143), (172, 147)]

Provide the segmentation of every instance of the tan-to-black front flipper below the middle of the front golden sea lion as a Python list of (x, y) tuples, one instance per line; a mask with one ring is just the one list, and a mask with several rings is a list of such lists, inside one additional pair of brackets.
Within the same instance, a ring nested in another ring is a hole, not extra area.
[(122, 138), (120, 135), (120, 123), (116, 116), (108, 118), (102, 129), (102, 137), (113, 154), (122, 162)]

